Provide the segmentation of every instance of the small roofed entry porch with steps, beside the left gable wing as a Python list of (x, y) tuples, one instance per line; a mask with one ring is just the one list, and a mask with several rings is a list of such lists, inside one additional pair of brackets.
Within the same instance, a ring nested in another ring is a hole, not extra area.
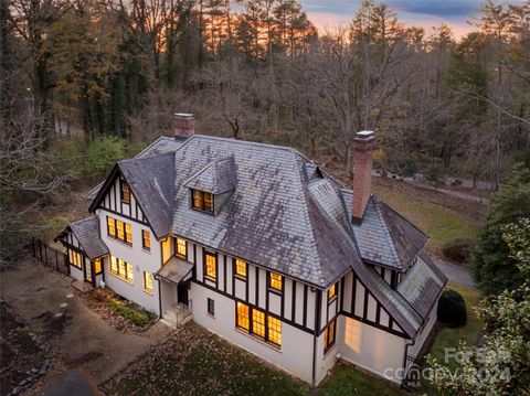
[(192, 264), (172, 256), (156, 275), (160, 281), (161, 321), (172, 328), (191, 319), (188, 293), (192, 270)]

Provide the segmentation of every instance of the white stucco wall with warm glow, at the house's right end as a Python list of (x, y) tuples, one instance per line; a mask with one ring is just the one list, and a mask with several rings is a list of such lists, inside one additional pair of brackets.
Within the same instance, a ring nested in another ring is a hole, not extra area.
[(381, 376), (388, 367), (403, 367), (405, 339), (344, 315), (337, 324), (338, 352), (343, 360)]

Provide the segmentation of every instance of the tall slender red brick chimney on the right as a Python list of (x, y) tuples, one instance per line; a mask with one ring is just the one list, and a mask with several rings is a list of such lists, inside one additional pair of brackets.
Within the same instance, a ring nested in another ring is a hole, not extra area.
[(372, 151), (375, 138), (371, 130), (357, 132), (353, 140), (353, 204), (351, 217), (361, 224), (368, 200), (372, 193)]

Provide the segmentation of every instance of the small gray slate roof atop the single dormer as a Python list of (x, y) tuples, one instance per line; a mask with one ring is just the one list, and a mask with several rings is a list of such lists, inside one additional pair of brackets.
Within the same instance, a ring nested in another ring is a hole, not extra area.
[(213, 161), (184, 182), (189, 189), (223, 194), (237, 186), (234, 156)]

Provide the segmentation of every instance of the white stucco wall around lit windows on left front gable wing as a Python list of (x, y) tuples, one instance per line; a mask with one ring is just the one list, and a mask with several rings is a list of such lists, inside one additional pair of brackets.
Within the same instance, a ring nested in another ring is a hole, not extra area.
[[(161, 267), (160, 243), (157, 242), (152, 231), (140, 223), (129, 218), (109, 213), (105, 210), (97, 210), (102, 239), (108, 246), (110, 254), (132, 265), (132, 283), (129, 283), (110, 272), (109, 259), (104, 263), (105, 283), (118, 295), (128, 300), (135, 301), (144, 308), (159, 314), (158, 281), (152, 281), (152, 295), (144, 291), (144, 271), (156, 274)], [(107, 215), (116, 220), (129, 223), (132, 227), (132, 246), (107, 235)], [(147, 229), (151, 235), (150, 250), (142, 249), (141, 231)]]

